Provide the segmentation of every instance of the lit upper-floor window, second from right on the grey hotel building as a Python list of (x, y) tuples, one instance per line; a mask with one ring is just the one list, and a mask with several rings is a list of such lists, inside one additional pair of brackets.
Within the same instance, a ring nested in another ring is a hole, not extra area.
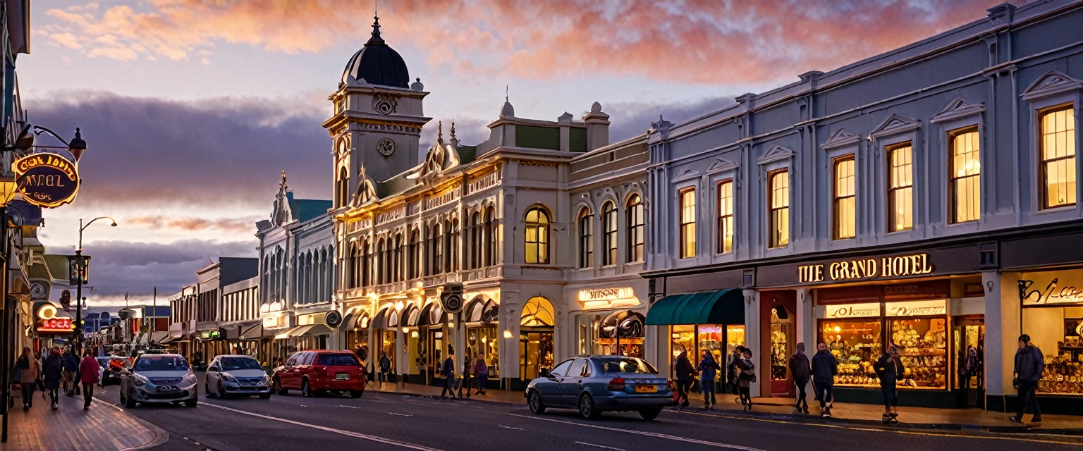
[(951, 137), (952, 222), (978, 221), (981, 211), (981, 161), (978, 129), (955, 133)]

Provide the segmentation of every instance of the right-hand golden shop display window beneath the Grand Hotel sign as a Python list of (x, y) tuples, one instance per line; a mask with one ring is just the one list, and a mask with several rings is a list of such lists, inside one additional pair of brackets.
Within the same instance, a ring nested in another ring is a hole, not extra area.
[(891, 319), (891, 343), (905, 368), (901, 387), (944, 388), (948, 384), (948, 331), (944, 318)]

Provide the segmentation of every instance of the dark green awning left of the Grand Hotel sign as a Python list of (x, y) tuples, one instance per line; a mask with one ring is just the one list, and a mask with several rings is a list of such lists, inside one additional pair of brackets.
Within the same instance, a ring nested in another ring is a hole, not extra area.
[(736, 288), (665, 296), (647, 311), (647, 324), (744, 324), (744, 296)]

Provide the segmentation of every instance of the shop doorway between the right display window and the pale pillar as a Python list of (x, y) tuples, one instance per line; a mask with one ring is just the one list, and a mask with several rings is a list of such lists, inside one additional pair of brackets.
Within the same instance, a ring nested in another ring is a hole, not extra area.
[(952, 344), (955, 347), (952, 388), (961, 408), (986, 407), (986, 319), (983, 315), (952, 319)]

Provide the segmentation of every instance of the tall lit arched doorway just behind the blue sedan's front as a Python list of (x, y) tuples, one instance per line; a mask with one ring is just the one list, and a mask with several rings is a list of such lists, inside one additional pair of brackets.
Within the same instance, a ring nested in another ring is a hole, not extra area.
[(553, 309), (536, 296), (523, 304), (519, 322), (519, 375), (524, 382), (548, 374), (553, 363)]

